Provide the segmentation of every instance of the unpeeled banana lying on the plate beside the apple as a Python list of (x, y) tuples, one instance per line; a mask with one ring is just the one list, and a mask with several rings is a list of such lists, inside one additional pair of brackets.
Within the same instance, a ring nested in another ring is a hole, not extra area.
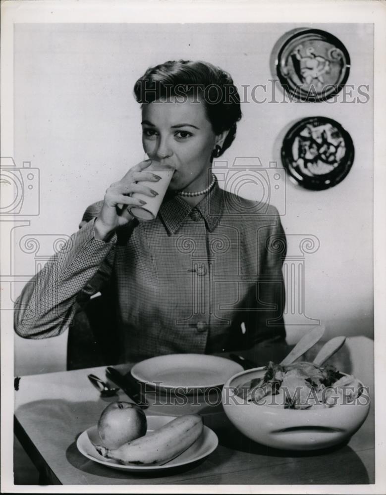
[(119, 448), (110, 449), (104, 446), (95, 446), (95, 448), (104, 457), (120, 464), (161, 465), (189, 448), (202, 431), (202, 417), (198, 414), (187, 414)]

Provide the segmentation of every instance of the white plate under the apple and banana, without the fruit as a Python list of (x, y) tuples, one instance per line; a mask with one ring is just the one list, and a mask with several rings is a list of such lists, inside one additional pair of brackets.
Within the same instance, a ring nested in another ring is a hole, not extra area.
[[(147, 416), (148, 433), (161, 428), (166, 423), (175, 419), (175, 416)], [(174, 457), (171, 461), (163, 464), (162, 466), (137, 466), (137, 465), (123, 465), (118, 464), (112, 459), (107, 459), (100, 455), (95, 448), (95, 445), (101, 445), (101, 439), (98, 435), (97, 425), (91, 426), (79, 435), (76, 441), (76, 446), (81, 454), (91, 459), (92, 461), (99, 462), (105, 466), (113, 469), (119, 469), (120, 471), (142, 472), (142, 471), (158, 471), (160, 469), (171, 469), (184, 464), (190, 464), (206, 457), (213, 452), (219, 445), (219, 439), (216, 433), (204, 425), (204, 429), (200, 437), (182, 454)]]

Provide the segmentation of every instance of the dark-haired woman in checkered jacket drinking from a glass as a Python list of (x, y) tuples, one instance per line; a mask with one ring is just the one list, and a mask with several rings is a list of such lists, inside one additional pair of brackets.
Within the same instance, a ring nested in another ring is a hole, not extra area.
[[(209, 63), (169, 61), (147, 70), (134, 94), (150, 160), (87, 208), (80, 230), (27, 284), (16, 332), (58, 335), (77, 301), (102, 292), (120, 362), (284, 338), (283, 249), (275, 243), (285, 246), (285, 237), (276, 208), (223, 191), (211, 173), (241, 118), (231, 77)], [(147, 170), (152, 159), (175, 172), (157, 218), (138, 222), (127, 208), (143, 204), (132, 193), (154, 195), (140, 184), (159, 180)]]

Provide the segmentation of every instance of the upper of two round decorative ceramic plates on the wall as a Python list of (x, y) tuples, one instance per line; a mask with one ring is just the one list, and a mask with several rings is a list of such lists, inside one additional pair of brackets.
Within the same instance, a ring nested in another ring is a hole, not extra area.
[(325, 101), (339, 93), (350, 72), (350, 56), (340, 40), (321, 29), (289, 32), (283, 39), (276, 73), (291, 97)]

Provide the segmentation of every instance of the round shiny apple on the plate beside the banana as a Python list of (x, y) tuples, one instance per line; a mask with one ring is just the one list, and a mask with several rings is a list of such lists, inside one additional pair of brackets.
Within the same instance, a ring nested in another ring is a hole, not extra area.
[(111, 402), (98, 421), (98, 434), (107, 448), (118, 448), (143, 437), (146, 430), (145, 413), (131, 402)]

